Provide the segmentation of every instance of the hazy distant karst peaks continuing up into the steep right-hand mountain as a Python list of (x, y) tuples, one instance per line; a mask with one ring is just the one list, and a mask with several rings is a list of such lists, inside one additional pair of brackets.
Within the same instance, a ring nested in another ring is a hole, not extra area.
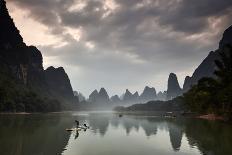
[[(219, 43), (219, 49), (228, 43), (232, 43), (232, 26), (226, 29), (223, 33), (222, 39)], [(200, 80), (201, 78), (215, 77), (214, 71), (216, 66), (214, 61), (220, 59), (219, 51), (220, 50), (211, 51), (208, 56), (203, 60), (203, 62), (196, 68), (192, 76), (185, 77), (184, 85), (182, 88), (179, 85), (177, 75), (175, 73), (170, 73), (168, 78), (167, 91), (156, 93), (155, 88), (150, 88), (146, 86), (141, 95), (139, 95), (137, 91), (133, 94), (128, 89), (126, 89), (126, 92), (122, 95), (121, 98), (118, 97), (118, 95), (114, 95), (110, 98), (110, 101), (112, 103), (117, 103), (121, 105), (130, 105), (156, 100), (172, 100), (177, 96), (181, 96), (183, 93), (187, 92), (193, 85), (197, 84), (198, 80)], [(93, 94), (95, 93), (93, 92), (92, 95)]]

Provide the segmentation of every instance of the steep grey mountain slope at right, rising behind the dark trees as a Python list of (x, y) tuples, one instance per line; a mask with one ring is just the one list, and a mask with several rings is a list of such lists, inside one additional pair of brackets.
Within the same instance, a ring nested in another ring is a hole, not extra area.
[(203, 77), (215, 77), (214, 71), (216, 69), (214, 61), (220, 59), (220, 49), (226, 44), (232, 43), (232, 26), (225, 30), (222, 39), (219, 43), (219, 50), (211, 51), (209, 55), (203, 60), (203, 62), (194, 71), (192, 77), (188, 78), (184, 82), (184, 92), (189, 90), (192, 85), (197, 84), (198, 80)]

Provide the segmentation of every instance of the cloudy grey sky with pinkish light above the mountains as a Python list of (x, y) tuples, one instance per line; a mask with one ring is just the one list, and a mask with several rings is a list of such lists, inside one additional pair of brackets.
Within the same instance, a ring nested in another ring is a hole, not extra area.
[(180, 85), (232, 24), (231, 0), (6, 0), (43, 64), (63, 66), (74, 90), (109, 95)]

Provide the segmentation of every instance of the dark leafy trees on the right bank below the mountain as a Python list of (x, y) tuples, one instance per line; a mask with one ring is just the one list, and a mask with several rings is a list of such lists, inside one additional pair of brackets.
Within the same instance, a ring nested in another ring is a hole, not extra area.
[(216, 78), (202, 78), (184, 94), (185, 104), (192, 111), (214, 113), (232, 119), (232, 46), (220, 50), (216, 60)]

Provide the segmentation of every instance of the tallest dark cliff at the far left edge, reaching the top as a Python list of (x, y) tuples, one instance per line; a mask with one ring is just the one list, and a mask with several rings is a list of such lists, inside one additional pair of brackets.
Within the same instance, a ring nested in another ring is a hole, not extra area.
[(42, 54), (36, 47), (25, 45), (4, 0), (0, 0), (0, 19), (0, 63), (22, 83), (28, 84), (37, 77), (33, 73), (43, 71)]

